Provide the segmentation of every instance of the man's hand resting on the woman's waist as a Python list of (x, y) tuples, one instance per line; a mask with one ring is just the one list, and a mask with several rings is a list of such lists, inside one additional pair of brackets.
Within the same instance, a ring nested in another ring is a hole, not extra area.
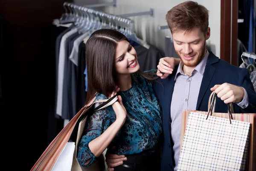
[(106, 153), (106, 163), (108, 165), (108, 171), (113, 171), (114, 168), (118, 165), (122, 165), (124, 160), (127, 160), (127, 157), (125, 155), (117, 155), (117, 154), (109, 154)]

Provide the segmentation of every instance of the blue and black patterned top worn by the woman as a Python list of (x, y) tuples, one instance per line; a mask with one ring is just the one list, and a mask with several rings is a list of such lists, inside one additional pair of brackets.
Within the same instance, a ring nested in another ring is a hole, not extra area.
[[(154, 94), (152, 83), (138, 73), (133, 73), (132, 87), (119, 91), (122, 103), (127, 111), (122, 128), (113, 139), (108, 149), (112, 154), (137, 154), (154, 149), (162, 133), (162, 112), (159, 101)], [(107, 99), (103, 94), (96, 95), (96, 101)], [(99, 104), (96, 104), (97, 107)], [(88, 144), (99, 137), (116, 120), (111, 106), (99, 110), (87, 118), (85, 131), (78, 146), (78, 160), (81, 165), (89, 166), (97, 158), (90, 151)], [(116, 148), (112, 150), (112, 147)], [(84, 163), (90, 160), (90, 163)]]

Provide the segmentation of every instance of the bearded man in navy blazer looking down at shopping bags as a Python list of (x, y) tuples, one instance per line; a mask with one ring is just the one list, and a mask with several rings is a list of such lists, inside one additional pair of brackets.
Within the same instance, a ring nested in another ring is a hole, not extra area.
[[(182, 111), (207, 111), (212, 91), (218, 96), (215, 112), (226, 113), (228, 103), (233, 103), (235, 113), (256, 111), (256, 93), (247, 69), (235, 67), (206, 50), (208, 18), (208, 10), (193, 1), (180, 3), (166, 14), (181, 62), (172, 75), (170, 58), (160, 59), (157, 66), (157, 76), (162, 78), (162, 84), (154, 84), (163, 109), (162, 171), (177, 170)], [(108, 170), (120, 165), (123, 157), (107, 156)]]

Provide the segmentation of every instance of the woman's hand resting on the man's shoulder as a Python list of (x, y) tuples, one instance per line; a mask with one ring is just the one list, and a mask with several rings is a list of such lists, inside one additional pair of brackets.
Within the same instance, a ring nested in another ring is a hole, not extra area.
[(172, 73), (173, 68), (179, 63), (180, 63), (180, 59), (177, 59), (177, 58), (173, 58), (173, 57), (161, 58), (157, 65), (157, 76), (160, 76), (162, 79), (165, 79)]

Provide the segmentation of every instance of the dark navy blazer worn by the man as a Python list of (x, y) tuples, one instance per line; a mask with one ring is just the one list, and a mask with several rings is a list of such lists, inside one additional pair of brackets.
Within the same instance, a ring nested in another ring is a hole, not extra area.
[[(171, 146), (171, 125), (170, 109), (172, 103), (172, 93), (174, 90), (174, 78), (177, 73), (177, 67), (174, 72), (165, 79), (158, 79), (154, 84), (154, 92), (160, 100), (163, 110), (163, 152), (161, 161), (161, 171), (173, 171), (173, 154)], [(249, 105), (242, 109), (233, 104), (235, 113), (255, 113), (256, 112), (256, 92), (250, 81), (249, 73), (246, 68), (239, 68), (230, 63), (219, 59), (212, 52), (209, 53), (207, 64), (204, 70), (196, 110), (207, 111), (208, 100), (212, 93), (210, 90), (215, 84), (230, 83), (243, 87), (248, 94)], [(215, 112), (227, 113), (227, 104), (224, 104), (220, 98), (216, 97)], [(181, 114), (180, 114), (181, 115)]]

